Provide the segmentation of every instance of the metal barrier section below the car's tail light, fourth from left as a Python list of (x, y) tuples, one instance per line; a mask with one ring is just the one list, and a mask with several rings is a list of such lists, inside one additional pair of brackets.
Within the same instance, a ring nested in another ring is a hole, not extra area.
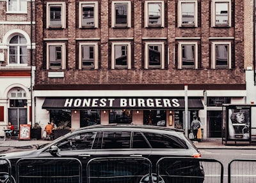
[(223, 183), (223, 164), (215, 159), (163, 157), (157, 162), (158, 182)]

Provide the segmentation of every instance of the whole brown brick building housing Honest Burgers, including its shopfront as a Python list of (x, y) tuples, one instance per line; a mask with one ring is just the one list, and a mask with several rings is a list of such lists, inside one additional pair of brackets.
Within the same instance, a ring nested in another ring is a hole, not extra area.
[(188, 121), (220, 137), (221, 104), (246, 102), (241, 2), (36, 0), (35, 21), (36, 122), (185, 129), (187, 85)]

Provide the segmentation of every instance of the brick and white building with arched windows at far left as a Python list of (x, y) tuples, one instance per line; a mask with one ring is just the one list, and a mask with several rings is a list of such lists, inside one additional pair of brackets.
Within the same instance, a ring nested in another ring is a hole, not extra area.
[[(0, 129), (31, 124), (35, 1), (0, 1)], [(0, 132), (0, 136), (4, 131)]]

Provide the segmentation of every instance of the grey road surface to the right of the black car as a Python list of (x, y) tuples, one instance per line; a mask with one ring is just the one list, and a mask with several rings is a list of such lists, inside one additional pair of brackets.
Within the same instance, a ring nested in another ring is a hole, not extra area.
[[(241, 149), (204, 149), (200, 150), (202, 154), (202, 158), (209, 158), (209, 159), (216, 159), (220, 161), (223, 164), (224, 168), (224, 183), (228, 182), (228, 163), (230, 163), (234, 159), (256, 159), (256, 150), (241, 150)], [(234, 163), (235, 164), (235, 163)], [(243, 163), (239, 162), (238, 167), (236, 168), (239, 170), (236, 171), (242, 171), (241, 166), (243, 166), (244, 174), (248, 172), (252, 172), (252, 168), (250, 166), (244, 166)], [(256, 163), (252, 163), (255, 164)], [(253, 173), (255, 174), (255, 173)], [(250, 178), (252, 179), (252, 177)], [(256, 177), (252, 180), (255, 181)], [(248, 179), (243, 182), (248, 182)]]

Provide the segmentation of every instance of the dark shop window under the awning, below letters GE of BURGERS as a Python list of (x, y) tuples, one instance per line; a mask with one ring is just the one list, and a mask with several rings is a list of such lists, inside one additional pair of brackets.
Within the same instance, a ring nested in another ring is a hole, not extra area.
[(145, 110), (143, 113), (143, 124), (166, 127), (166, 111)]

